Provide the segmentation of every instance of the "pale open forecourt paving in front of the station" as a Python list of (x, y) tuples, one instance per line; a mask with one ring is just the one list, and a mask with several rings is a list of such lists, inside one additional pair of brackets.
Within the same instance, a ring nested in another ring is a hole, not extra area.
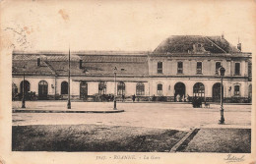
[[(62, 101), (28, 101), (27, 109), (65, 108)], [(13, 108), (21, 102), (13, 102)], [(72, 102), (76, 109), (111, 109), (112, 102)], [(13, 113), (13, 126), (95, 124), (109, 126), (147, 127), (184, 130), (195, 127), (250, 128), (251, 105), (225, 105), (225, 125), (218, 125), (220, 105), (210, 108), (192, 108), (191, 104), (177, 103), (117, 103), (123, 113)], [(72, 109), (71, 109), (72, 110)]]

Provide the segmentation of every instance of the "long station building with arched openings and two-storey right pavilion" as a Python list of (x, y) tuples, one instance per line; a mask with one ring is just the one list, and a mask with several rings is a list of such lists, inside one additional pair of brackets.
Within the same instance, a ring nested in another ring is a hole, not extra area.
[[(68, 61), (68, 52), (14, 51), (13, 95), (21, 95), (24, 88), (35, 99), (67, 98)], [(232, 46), (223, 35), (170, 36), (153, 52), (71, 52), (71, 98), (88, 100), (116, 89), (117, 97), (136, 95), (141, 100), (185, 101), (199, 96), (220, 101), (221, 66), (224, 100), (250, 101), (251, 53), (241, 52), (241, 43)]]

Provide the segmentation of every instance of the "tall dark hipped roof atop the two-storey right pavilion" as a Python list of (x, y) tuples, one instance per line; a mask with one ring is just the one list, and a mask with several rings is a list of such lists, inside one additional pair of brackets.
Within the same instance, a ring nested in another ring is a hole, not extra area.
[(201, 52), (237, 53), (239, 50), (221, 36), (173, 35), (163, 40), (154, 53), (193, 53), (201, 44)]

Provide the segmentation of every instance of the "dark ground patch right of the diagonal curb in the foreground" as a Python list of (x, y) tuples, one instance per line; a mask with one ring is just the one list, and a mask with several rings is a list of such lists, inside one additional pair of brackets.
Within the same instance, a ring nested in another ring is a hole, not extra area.
[(251, 129), (203, 128), (187, 137), (176, 149), (180, 152), (250, 153)]

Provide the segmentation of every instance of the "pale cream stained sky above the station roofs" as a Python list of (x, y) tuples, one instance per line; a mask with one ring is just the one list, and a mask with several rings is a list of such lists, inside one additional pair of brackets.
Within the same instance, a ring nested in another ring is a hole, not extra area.
[(25, 51), (153, 51), (170, 35), (222, 35), (255, 47), (255, 1), (22, 1), (1, 3), (1, 37)]

